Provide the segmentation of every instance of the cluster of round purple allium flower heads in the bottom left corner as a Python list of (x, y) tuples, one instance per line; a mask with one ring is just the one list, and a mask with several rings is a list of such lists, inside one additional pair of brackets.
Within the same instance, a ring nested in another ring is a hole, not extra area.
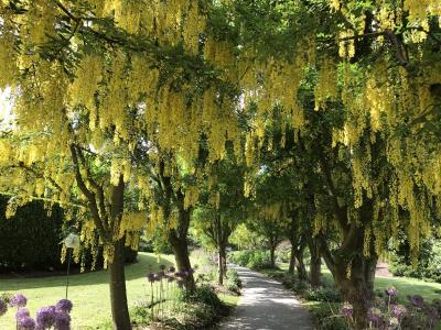
[(62, 299), (55, 306), (42, 307), (36, 310), (35, 318), (26, 308), (28, 299), (22, 294), (12, 298), (0, 297), (0, 317), (6, 315), (8, 307), (17, 308), (17, 330), (71, 330), (71, 300)]

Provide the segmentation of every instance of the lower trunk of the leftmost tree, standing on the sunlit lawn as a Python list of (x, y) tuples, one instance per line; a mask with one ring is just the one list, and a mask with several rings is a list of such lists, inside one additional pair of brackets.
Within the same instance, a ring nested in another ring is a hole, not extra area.
[(130, 330), (125, 276), (125, 240), (114, 245), (114, 260), (109, 263), (111, 318), (116, 330)]

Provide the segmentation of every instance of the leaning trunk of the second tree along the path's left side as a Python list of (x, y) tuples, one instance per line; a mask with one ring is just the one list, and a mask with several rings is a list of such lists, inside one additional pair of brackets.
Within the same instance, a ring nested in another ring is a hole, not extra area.
[(184, 278), (185, 288), (189, 290), (195, 289), (195, 283), (192, 272), (192, 264), (189, 256), (189, 244), (186, 238), (179, 238), (175, 230), (170, 231), (170, 243), (173, 248), (174, 258), (179, 272), (187, 272)]

